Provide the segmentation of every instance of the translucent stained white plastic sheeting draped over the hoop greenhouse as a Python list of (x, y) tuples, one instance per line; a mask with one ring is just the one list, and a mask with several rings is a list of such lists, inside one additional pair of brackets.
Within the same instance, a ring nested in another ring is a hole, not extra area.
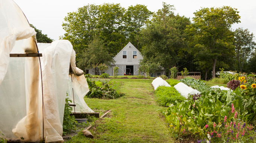
[[(5, 135), (0, 136), (12, 140), (24, 138), (21, 141), (25, 142), (39, 142), (44, 137), (46, 143), (63, 142), (64, 104), (66, 92), (73, 99), (71, 85), (76, 112), (93, 112), (83, 99), (88, 85), (85, 77), (79, 76), (82, 71), (75, 67), (71, 43), (60, 40), (38, 44), (43, 54), (41, 72), (38, 57), (9, 57), (10, 53), (38, 51), (35, 30), (21, 9), (12, 0), (0, 0), (0, 19), (0, 132)], [(70, 64), (75, 73), (73, 83), (69, 76)]]

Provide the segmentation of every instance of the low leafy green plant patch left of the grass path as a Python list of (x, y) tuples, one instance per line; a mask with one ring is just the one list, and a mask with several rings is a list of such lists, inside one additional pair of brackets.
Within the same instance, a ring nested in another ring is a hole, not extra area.
[(87, 83), (90, 91), (86, 96), (89, 98), (115, 99), (125, 95), (124, 93), (120, 93), (119, 91), (111, 88), (106, 82), (92, 81), (88, 78)]

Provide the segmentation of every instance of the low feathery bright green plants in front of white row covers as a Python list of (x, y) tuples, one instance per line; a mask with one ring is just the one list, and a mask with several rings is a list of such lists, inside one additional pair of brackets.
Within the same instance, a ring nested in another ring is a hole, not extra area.
[(156, 102), (160, 106), (168, 106), (169, 103), (176, 105), (175, 101), (182, 102), (186, 100), (174, 87), (160, 86), (155, 90)]

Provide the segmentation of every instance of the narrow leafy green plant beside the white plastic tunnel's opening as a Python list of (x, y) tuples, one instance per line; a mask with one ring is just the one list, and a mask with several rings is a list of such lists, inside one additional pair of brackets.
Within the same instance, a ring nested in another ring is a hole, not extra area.
[(66, 135), (70, 133), (71, 130), (74, 130), (77, 123), (75, 120), (75, 116), (70, 116), (70, 114), (72, 113), (72, 107), (69, 106), (69, 103), (72, 103), (72, 101), (67, 97), (63, 116), (63, 135)]

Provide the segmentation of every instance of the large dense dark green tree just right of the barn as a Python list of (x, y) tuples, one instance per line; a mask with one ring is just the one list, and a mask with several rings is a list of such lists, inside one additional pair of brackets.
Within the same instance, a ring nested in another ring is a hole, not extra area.
[(173, 6), (163, 3), (163, 8), (154, 15), (152, 23), (142, 30), (143, 61), (159, 63), (165, 69), (174, 67), (183, 55), (187, 42), (184, 29), (189, 18), (174, 15)]

